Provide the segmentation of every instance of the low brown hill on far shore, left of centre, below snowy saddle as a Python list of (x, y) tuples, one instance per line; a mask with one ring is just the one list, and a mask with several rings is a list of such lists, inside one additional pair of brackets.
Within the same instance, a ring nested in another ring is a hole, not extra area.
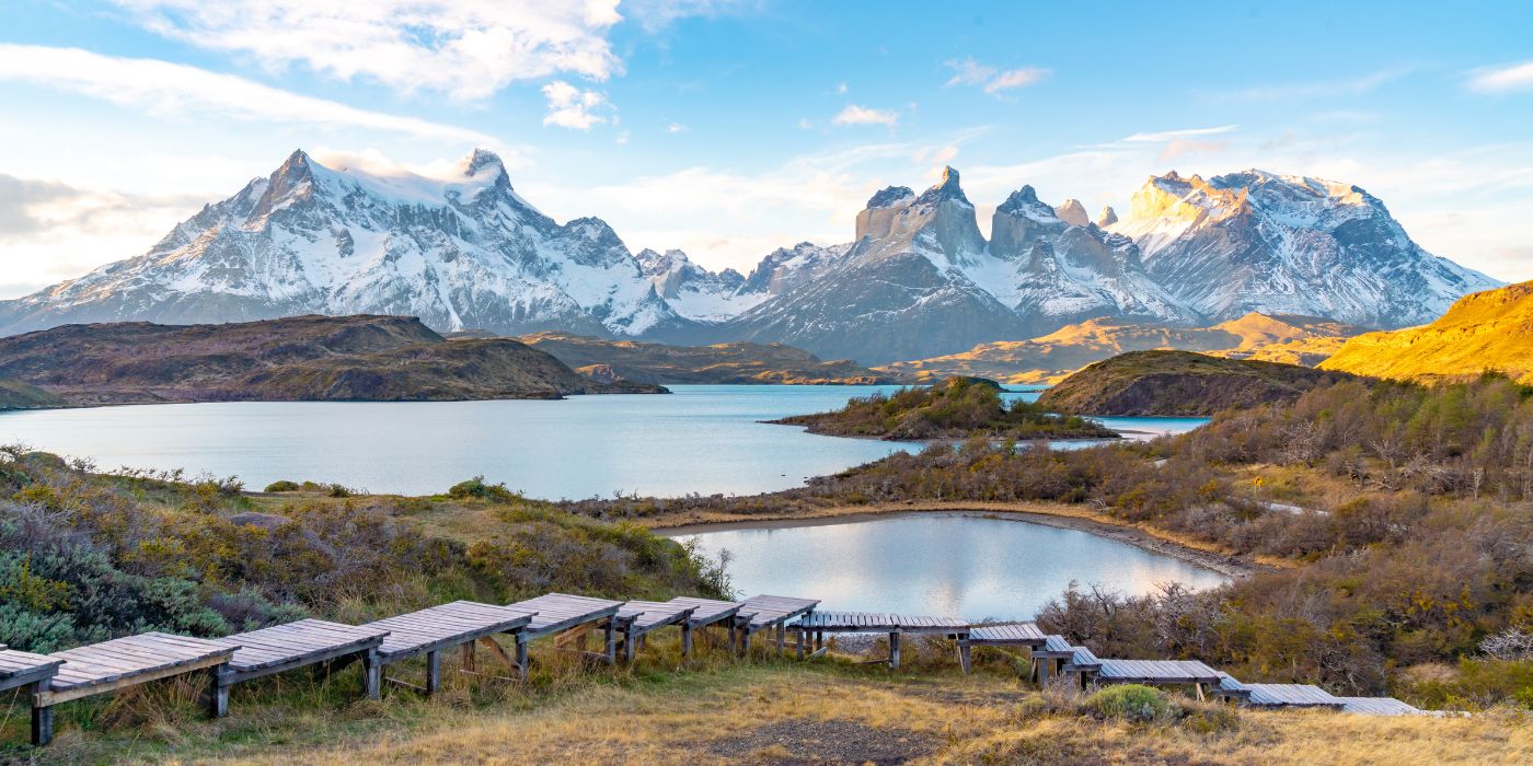
[(567, 332), (537, 332), (517, 340), (553, 354), (598, 380), (639, 383), (898, 383), (889, 372), (874, 372), (851, 360), (822, 362), (814, 354), (782, 343), (714, 343), (667, 346), (633, 340), (602, 340)]

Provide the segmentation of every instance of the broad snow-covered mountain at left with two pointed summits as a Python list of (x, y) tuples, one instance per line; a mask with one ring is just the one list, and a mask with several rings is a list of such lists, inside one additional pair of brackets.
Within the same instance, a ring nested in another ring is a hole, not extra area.
[(452, 178), (294, 152), (149, 253), (0, 303), (0, 332), (66, 322), (412, 314), (448, 331), (656, 336), (685, 328), (601, 219), (564, 225), (475, 150)]

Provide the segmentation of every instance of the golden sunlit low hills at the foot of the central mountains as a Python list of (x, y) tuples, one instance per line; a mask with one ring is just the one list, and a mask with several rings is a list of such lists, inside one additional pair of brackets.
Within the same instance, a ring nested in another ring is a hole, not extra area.
[(1210, 328), (1091, 319), (1032, 340), (981, 343), (963, 354), (897, 362), (880, 371), (937, 380), (977, 375), (1006, 383), (1056, 383), (1128, 351), (1177, 349), (1312, 366), (1361, 328), (1329, 319), (1249, 313)]

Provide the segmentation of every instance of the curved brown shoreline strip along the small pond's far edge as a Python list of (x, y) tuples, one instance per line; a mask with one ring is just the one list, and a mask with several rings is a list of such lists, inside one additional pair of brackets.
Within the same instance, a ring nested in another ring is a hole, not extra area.
[[(1049, 502), (909, 502), (900, 506), (837, 506), (817, 509), (809, 513), (762, 513), (754, 516), (713, 515), (710, 518), (690, 519), (655, 519), (650, 532), (664, 538), (679, 538), (702, 532), (722, 532), (734, 529), (785, 529), (785, 527), (822, 527), (835, 524), (852, 524), (874, 518), (900, 518), (915, 515), (943, 515), (952, 518), (1000, 518), (1023, 524), (1041, 524), (1046, 527), (1072, 529), (1114, 539), (1141, 550), (1171, 556), (1177, 561), (1217, 571), (1231, 579), (1243, 579), (1259, 571), (1271, 571), (1275, 567), (1242, 559), (1213, 545), (1194, 545), (1191, 541), (1180, 541), (1174, 536), (1101, 516), (1084, 509)], [(679, 524), (678, 524), (679, 522)]]

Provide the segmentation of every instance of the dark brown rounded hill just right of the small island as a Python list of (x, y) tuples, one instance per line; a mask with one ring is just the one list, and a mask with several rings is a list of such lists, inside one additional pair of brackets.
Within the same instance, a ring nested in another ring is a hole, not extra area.
[(1038, 404), (1082, 415), (1214, 415), (1229, 408), (1292, 401), (1349, 380), (1295, 365), (1220, 358), (1188, 351), (1134, 351), (1098, 362), (1046, 391)]

